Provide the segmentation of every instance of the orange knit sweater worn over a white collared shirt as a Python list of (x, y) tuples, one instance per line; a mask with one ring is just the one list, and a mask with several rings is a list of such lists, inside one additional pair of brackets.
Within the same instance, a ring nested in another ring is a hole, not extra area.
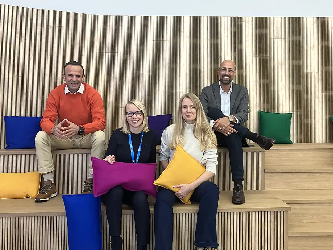
[[(51, 129), (55, 126), (57, 116), (59, 121), (67, 119), (70, 122), (84, 128), (84, 133), (89, 134), (105, 128), (105, 114), (103, 100), (96, 89), (84, 85), (83, 94), (65, 94), (66, 83), (53, 89), (46, 100), (41, 128), (51, 135)], [(68, 124), (63, 124), (63, 127)]]

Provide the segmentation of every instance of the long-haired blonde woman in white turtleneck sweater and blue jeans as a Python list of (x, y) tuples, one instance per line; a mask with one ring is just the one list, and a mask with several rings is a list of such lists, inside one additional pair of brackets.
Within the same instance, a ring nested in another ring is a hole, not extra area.
[(173, 204), (194, 190), (190, 200), (199, 202), (194, 249), (217, 248), (216, 213), (218, 187), (208, 180), (215, 175), (217, 143), (200, 100), (193, 94), (183, 96), (178, 104), (176, 123), (162, 134), (159, 160), (166, 169), (177, 145), (206, 167), (206, 171), (190, 184), (182, 184), (179, 191), (159, 187), (155, 203), (155, 250), (172, 250)]

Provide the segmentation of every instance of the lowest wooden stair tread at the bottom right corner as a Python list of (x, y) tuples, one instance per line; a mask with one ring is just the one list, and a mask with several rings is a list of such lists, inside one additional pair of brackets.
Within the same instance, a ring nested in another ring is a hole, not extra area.
[(288, 236), (333, 236), (333, 222), (289, 223)]

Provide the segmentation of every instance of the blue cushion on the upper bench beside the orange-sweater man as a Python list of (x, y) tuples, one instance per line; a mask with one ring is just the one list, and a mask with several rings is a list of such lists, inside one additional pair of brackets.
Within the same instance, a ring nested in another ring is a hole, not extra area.
[(42, 116), (4, 116), (6, 149), (35, 148), (35, 138), (41, 127)]

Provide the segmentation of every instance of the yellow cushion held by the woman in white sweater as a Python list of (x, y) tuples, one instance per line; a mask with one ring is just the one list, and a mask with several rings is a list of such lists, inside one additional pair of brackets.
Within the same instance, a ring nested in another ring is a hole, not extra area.
[[(195, 160), (180, 145), (178, 145), (173, 158), (154, 184), (156, 186), (170, 189), (173, 192), (177, 192), (180, 188), (174, 188), (173, 186), (190, 184), (199, 178), (205, 171), (206, 168), (201, 163)], [(184, 199), (181, 199), (181, 201), (185, 204), (191, 204), (189, 199), (192, 196), (193, 191), (189, 192)]]

